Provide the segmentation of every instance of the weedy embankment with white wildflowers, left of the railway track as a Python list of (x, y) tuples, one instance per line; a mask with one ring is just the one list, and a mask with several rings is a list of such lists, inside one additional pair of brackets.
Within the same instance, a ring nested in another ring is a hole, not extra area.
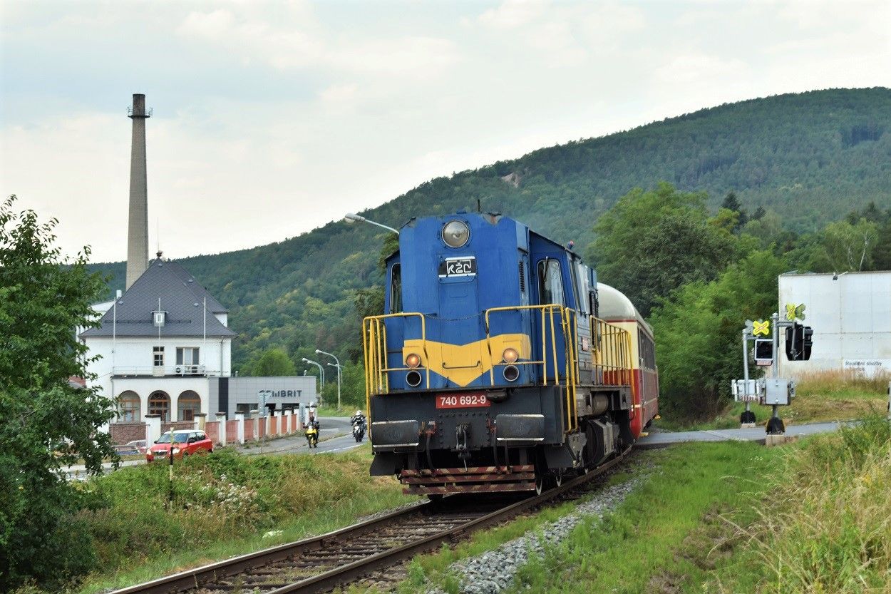
[(119, 588), (328, 532), (415, 499), (391, 478), (369, 476), (370, 464), (367, 445), (324, 456), (245, 457), (221, 449), (177, 461), (172, 505), (166, 465), (82, 483), (89, 505), (78, 520), (93, 537), (98, 565), (78, 591)]

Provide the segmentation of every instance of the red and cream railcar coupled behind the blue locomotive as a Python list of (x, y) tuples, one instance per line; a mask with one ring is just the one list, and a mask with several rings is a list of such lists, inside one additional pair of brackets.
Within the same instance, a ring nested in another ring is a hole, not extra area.
[(632, 395), (631, 433), (637, 439), (659, 412), (659, 376), (656, 367), (656, 342), (653, 330), (634, 303), (617, 289), (597, 284), (599, 318), (628, 333), (630, 338)]

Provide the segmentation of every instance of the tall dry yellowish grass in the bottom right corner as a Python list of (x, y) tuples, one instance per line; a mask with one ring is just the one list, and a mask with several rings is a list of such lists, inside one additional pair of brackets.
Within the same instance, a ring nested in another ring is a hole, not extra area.
[[(738, 537), (763, 564), (758, 591), (891, 591), (891, 426), (882, 417), (821, 436), (787, 458), (772, 506)], [(738, 591), (735, 580), (716, 582)]]

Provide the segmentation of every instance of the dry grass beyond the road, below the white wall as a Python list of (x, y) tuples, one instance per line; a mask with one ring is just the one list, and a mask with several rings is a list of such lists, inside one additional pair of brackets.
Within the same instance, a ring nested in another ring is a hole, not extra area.
[[(796, 398), (789, 407), (780, 408), (780, 417), (786, 425), (838, 421), (866, 417), (887, 408), (888, 381), (891, 376), (863, 377), (853, 372), (822, 371), (803, 375), (796, 387)], [(654, 426), (666, 431), (699, 431), (702, 429), (729, 429), (740, 426), (740, 413), (745, 410), (741, 402), (707, 421), (689, 422), (683, 419), (662, 417)], [(771, 417), (771, 407), (754, 405), (752, 410), (759, 425)]]

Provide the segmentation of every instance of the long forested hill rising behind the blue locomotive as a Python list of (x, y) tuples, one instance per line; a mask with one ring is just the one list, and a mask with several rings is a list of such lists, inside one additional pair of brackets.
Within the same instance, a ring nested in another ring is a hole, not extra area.
[[(635, 186), (668, 181), (735, 192), (749, 211), (780, 213), (798, 232), (876, 202), (891, 206), (891, 89), (813, 91), (725, 104), (610, 136), (540, 149), (438, 177), (368, 210), (398, 227), (413, 216), (497, 210), (560, 242), (592, 240), (597, 217)], [(282, 216), (287, 213), (282, 213)], [(281, 346), (355, 352), (356, 290), (380, 282), (381, 239), (368, 225), (333, 222), (281, 243), (180, 260), (230, 308), (236, 368)], [(123, 263), (97, 264), (123, 285)], [(301, 368), (302, 367), (298, 367)]]

